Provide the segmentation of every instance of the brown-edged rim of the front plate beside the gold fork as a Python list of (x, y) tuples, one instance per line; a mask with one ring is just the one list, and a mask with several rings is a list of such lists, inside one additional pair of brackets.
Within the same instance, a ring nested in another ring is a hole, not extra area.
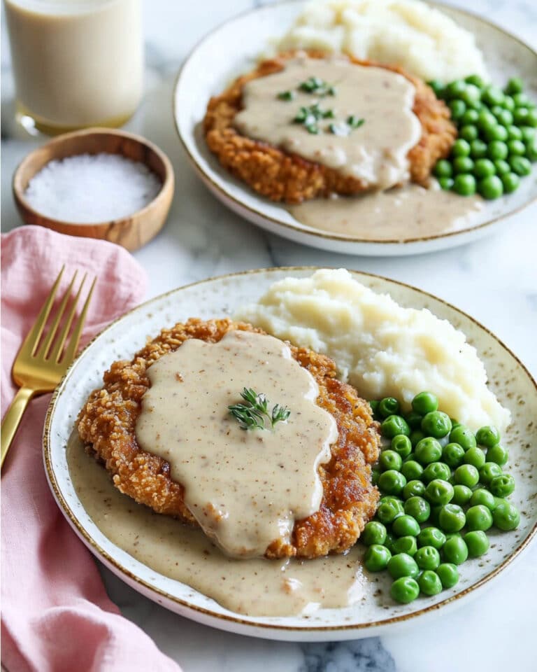
[[(122, 319), (126, 318), (130, 314), (134, 313), (135, 311), (145, 309), (148, 307), (152, 302), (155, 302), (157, 300), (162, 300), (165, 297), (168, 297), (169, 295), (173, 293), (178, 293), (182, 290), (198, 286), (204, 283), (210, 283), (213, 281), (221, 281), (224, 279), (229, 279), (231, 277), (237, 277), (237, 276), (247, 276), (247, 275), (255, 275), (259, 273), (270, 273), (270, 272), (275, 272), (275, 271), (284, 271), (284, 272), (289, 272), (289, 274), (292, 274), (292, 272), (296, 271), (311, 271), (315, 272), (316, 270), (319, 269), (335, 269), (335, 267), (320, 267), (320, 266), (278, 266), (278, 267), (269, 267), (269, 268), (257, 268), (257, 269), (249, 269), (245, 271), (239, 271), (239, 272), (234, 272), (234, 273), (227, 273), (227, 274), (222, 274), (220, 276), (213, 276), (210, 278), (206, 278), (203, 280), (198, 280), (192, 283), (188, 283), (186, 285), (182, 285), (180, 287), (174, 288), (172, 290), (169, 290), (167, 292), (164, 292), (162, 294), (159, 294), (155, 297), (152, 297), (148, 299), (147, 301), (139, 304), (138, 306), (130, 309), (129, 311), (125, 312), (121, 316), (115, 318), (114, 321), (112, 321), (109, 325), (106, 326), (99, 334), (95, 335), (90, 342), (88, 342), (85, 347), (83, 348), (82, 351), (78, 354), (76, 359), (71, 363), (69, 368), (66, 370), (66, 373), (64, 374), (64, 377), (60, 381), (59, 385), (55, 389), (55, 391), (52, 393), (52, 398), (50, 399), (50, 403), (47, 408), (47, 413), (45, 416), (45, 424), (43, 426), (43, 462), (45, 465), (45, 475), (47, 477), (48, 485), (50, 487), (50, 490), (52, 491), (52, 496), (55, 498), (57, 505), (59, 506), (59, 509), (61, 510), (62, 514), (64, 517), (67, 519), (73, 530), (76, 532), (78, 537), (83, 541), (83, 543), (90, 549), (90, 551), (105, 564), (108, 564), (109, 566), (113, 566), (115, 570), (115, 574), (120, 577), (121, 580), (124, 582), (134, 582), (136, 583), (141, 590), (137, 590), (138, 592), (145, 591), (145, 593), (152, 594), (154, 596), (159, 596), (164, 598), (167, 601), (173, 602), (176, 605), (186, 608), (187, 610), (192, 610), (197, 612), (201, 616), (207, 616), (210, 617), (211, 619), (217, 619), (220, 622), (229, 622), (231, 624), (235, 624), (238, 626), (246, 626), (248, 629), (251, 629), (252, 631), (255, 631), (255, 629), (261, 629), (262, 631), (287, 631), (287, 632), (295, 632), (295, 633), (322, 633), (322, 632), (331, 632), (331, 631), (360, 631), (360, 632), (366, 632), (371, 629), (375, 629), (378, 627), (383, 627), (383, 626), (388, 626), (394, 623), (403, 623), (403, 622), (408, 622), (412, 619), (417, 619), (417, 617), (421, 617), (422, 615), (425, 614), (432, 614), (434, 612), (437, 612), (440, 610), (442, 607), (446, 607), (447, 605), (452, 605), (457, 600), (460, 600), (461, 598), (466, 597), (468, 594), (474, 593), (478, 589), (480, 589), (482, 586), (487, 584), (490, 580), (492, 580), (496, 575), (501, 573), (504, 569), (506, 569), (513, 561), (520, 556), (520, 553), (526, 549), (531, 541), (534, 539), (534, 537), (537, 535), (537, 521), (534, 523), (534, 526), (531, 528), (531, 531), (529, 531), (528, 535), (520, 542), (520, 544), (513, 550), (513, 552), (504, 559), (499, 566), (497, 566), (494, 570), (492, 570), (491, 573), (487, 574), (486, 576), (482, 577), (480, 580), (472, 584), (471, 586), (468, 586), (466, 589), (463, 591), (452, 595), (450, 597), (447, 597), (445, 600), (438, 602), (433, 605), (429, 605), (427, 607), (421, 608), (417, 611), (414, 611), (410, 614), (401, 614), (398, 616), (393, 616), (387, 619), (380, 619), (380, 620), (375, 620), (373, 622), (368, 622), (368, 623), (358, 623), (358, 624), (341, 624), (337, 626), (331, 626), (331, 625), (323, 625), (323, 626), (298, 626), (298, 625), (283, 625), (283, 624), (276, 624), (276, 623), (267, 623), (267, 622), (252, 622), (251, 620), (243, 619), (240, 615), (228, 615), (228, 614), (221, 614), (217, 613), (215, 611), (212, 611), (210, 609), (207, 609), (205, 607), (201, 607), (199, 605), (193, 604), (192, 602), (189, 602), (185, 599), (178, 598), (176, 596), (173, 596), (166, 592), (163, 589), (160, 589), (158, 587), (155, 587), (154, 585), (150, 584), (149, 582), (143, 580), (141, 577), (138, 575), (134, 574), (131, 572), (131, 570), (127, 569), (126, 567), (122, 566), (122, 563), (120, 561), (117, 561), (117, 559), (113, 558), (108, 551), (105, 549), (101, 548), (101, 546), (92, 538), (90, 533), (87, 532), (85, 527), (78, 521), (78, 518), (76, 517), (76, 514), (71, 510), (71, 507), (69, 504), (66, 502), (64, 499), (64, 496), (62, 495), (62, 492), (59, 489), (59, 485), (57, 482), (57, 478), (55, 475), (55, 470), (52, 467), (52, 458), (51, 458), (51, 425), (52, 425), (52, 418), (55, 413), (55, 407), (57, 404), (57, 400), (59, 398), (60, 393), (62, 392), (62, 389), (64, 388), (64, 385), (68, 381), (69, 377), (71, 377), (71, 374), (73, 374), (73, 370), (75, 370), (76, 366), (78, 365), (78, 361), (80, 360), (80, 357), (87, 351), (87, 349), (96, 342), (97, 339), (99, 339), (101, 336), (106, 334), (111, 328), (113, 328), (117, 323), (119, 323)], [(480, 321), (475, 319), (473, 316), (468, 315), (466, 312), (462, 311), (461, 309), (457, 308), (450, 302), (447, 302), (443, 300), (441, 297), (438, 297), (434, 294), (431, 294), (427, 292), (426, 290), (422, 290), (418, 287), (415, 287), (413, 285), (410, 285), (405, 282), (401, 282), (399, 280), (394, 280), (392, 278), (387, 278), (386, 276), (382, 276), (379, 274), (374, 274), (374, 273), (367, 273), (367, 272), (362, 272), (362, 271), (357, 271), (356, 269), (349, 269), (351, 274), (361, 274), (364, 276), (368, 276), (373, 279), (380, 279), (382, 281), (389, 281), (392, 283), (395, 283), (396, 285), (403, 286), (405, 288), (409, 288), (410, 290), (417, 291), (417, 293), (421, 293), (427, 297), (430, 297), (438, 302), (441, 302), (441, 304), (444, 304), (448, 308), (456, 311), (457, 313), (461, 314), (462, 316), (468, 318), (471, 322), (473, 322), (475, 325), (478, 326), (478, 328), (481, 328), (484, 330), (490, 337), (492, 337), (496, 342), (508, 352), (508, 354), (513, 357), (513, 359), (517, 362), (520, 367), (522, 367), (522, 370), (527, 374), (527, 377), (529, 379), (529, 382), (533, 384), (536, 394), (537, 394), (537, 381), (534, 378), (534, 376), (531, 374), (529, 369), (524, 365), (522, 360), (513, 353), (513, 351), (506, 346), (505, 343), (499, 337), (497, 337), (494, 332), (489, 330), (485, 325), (482, 325)], [(187, 585), (187, 584), (183, 584)], [(162, 604), (162, 602), (160, 602)], [(164, 606), (166, 606), (164, 604)]]

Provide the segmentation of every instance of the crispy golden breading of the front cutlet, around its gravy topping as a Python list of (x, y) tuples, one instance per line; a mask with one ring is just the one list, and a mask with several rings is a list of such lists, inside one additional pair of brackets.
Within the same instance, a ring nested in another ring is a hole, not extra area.
[[(105, 463), (117, 489), (158, 513), (192, 524), (196, 521), (185, 505), (181, 484), (169, 476), (169, 463), (143, 451), (136, 442), (136, 419), (150, 385), (146, 370), (185, 339), (215, 343), (233, 329), (262, 333), (252, 325), (228, 319), (192, 318), (164, 329), (133, 360), (113, 363), (104, 374), (103, 388), (92, 392), (78, 416), (81, 439), (87, 450)], [(319, 468), (324, 490), (320, 510), (296, 522), (291, 544), (274, 540), (266, 556), (313, 558), (350, 548), (375, 513), (378, 490), (371, 485), (371, 463), (379, 453), (378, 423), (355, 388), (336, 379), (331, 359), (294, 346), (292, 356), (317, 381), (317, 404), (334, 416), (339, 436), (331, 447), (331, 460)]]

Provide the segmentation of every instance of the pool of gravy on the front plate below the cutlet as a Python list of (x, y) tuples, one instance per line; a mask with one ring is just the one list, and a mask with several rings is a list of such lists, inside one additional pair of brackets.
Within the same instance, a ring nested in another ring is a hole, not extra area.
[(120, 493), (108, 472), (85, 453), (76, 432), (67, 445), (67, 462), (85, 512), (110, 542), (224, 608), (250, 616), (307, 614), (355, 604), (368, 591), (360, 546), (345, 556), (303, 562), (231, 559), (201, 530)]

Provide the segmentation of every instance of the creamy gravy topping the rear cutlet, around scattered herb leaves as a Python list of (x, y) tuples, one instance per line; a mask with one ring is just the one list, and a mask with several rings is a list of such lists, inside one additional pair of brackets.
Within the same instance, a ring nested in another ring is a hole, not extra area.
[[(299, 90), (310, 77), (333, 85), (335, 95), (319, 97)], [(294, 92), (294, 99), (278, 99), (284, 91)], [(386, 69), (346, 59), (297, 57), (282, 71), (245, 85), (243, 110), (234, 125), (250, 138), (337, 169), (366, 186), (385, 189), (408, 179), (407, 154), (422, 133), (412, 111), (414, 97), (413, 85)], [(334, 118), (319, 121), (320, 132), (310, 134), (293, 119), (301, 106), (315, 102), (322, 110), (334, 111)], [(364, 124), (344, 137), (329, 131), (331, 123), (345, 122), (352, 115), (363, 118)]]

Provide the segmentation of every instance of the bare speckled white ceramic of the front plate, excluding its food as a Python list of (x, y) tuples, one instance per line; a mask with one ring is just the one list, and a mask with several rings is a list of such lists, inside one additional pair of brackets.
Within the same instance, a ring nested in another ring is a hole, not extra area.
[(262, 269), (210, 279), (152, 299), (110, 325), (87, 346), (57, 388), (45, 423), (45, 467), (59, 507), (90, 551), (110, 570), (141, 594), (203, 624), (245, 635), (282, 640), (355, 639), (387, 628), (413, 624), (478, 594), (527, 546), (536, 532), (537, 497), (537, 386), (522, 363), (506, 346), (471, 317), (410, 286), (378, 276), (353, 272), (373, 290), (387, 292), (409, 307), (427, 307), (463, 330), (485, 361), (491, 386), (513, 413), (505, 437), (510, 449), (509, 470), (517, 479), (513, 501), (520, 507), (520, 528), (492, 533), (487, 555), (464, 563), (457, 587), (410, 605), (389, 598), (389, 580), (368, 575), (361, 601), (344, 609), (320, 610), (309, 617), (245, 617), (222, 608), (212, 599), (175, 580), (155, 573), (110, 542), (87, 515), (73, 488), (66, 463), (66, 442), (80, 407), (92, 389), (101, 386), (103, 372), (114, 360), (131, 358), (148, 337), (164, 326), (191, 316), (229, 316), (241, 305), (255, 301), (275, 280), (308, 276), (313, 268)]

